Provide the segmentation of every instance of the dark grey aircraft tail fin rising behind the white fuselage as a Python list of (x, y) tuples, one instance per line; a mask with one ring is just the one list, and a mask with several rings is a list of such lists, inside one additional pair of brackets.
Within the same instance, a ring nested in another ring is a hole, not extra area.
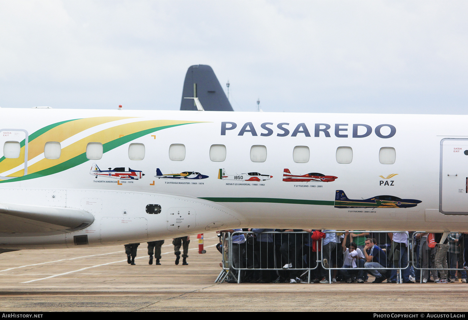
[(183, 82), (180, 109), (197, 110), (193, 99), (186, 97), (197, 97), (206, 111), (234, 111), (209, 65), (191, 65)]

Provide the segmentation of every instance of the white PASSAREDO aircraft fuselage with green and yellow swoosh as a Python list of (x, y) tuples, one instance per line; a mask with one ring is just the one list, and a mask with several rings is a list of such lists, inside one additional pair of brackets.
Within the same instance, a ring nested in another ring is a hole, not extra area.
[[(0, 145), (14, 149), (19, 142), (21, 152), (0, 159), (0, 248), (125, 244), (239, 227), (468, 231), (467, 121), (449, 115), (2, 108)], [(58, 159), (44, 157), (47, 142), (60, 143)], [(102, 158), (89, 153), (88, 159), (89, 143), (102, 144)], [(144, 145), (142, 160), (129, 158), (131, 144)], [(183, 160), (180, 154), (169, 158), (171, 145), (185, 147)], [(226, 147), (224, 161), (210, 159), (212, 145)], [(266, 147), (263, 162), (251, 160), (254, 145)], [(293, 160), (295, 146), (309, 148), (307, 162)], [(343, 146), (352, 149), (351, 163), (336, 160)], [(395, 149), (395, 163), (380, 163), (382, 147)], [(144, 176), (96, 178), (89, 174), (93, 163)], [(157, 179), (158, 167), (209, 177)], [(272, 178), (220, 180), (220, 168)], [(285, 182), (285, 168), (337, 179)], [(336, 204), (337, 190), (351, 200)], [(372, 200), (382, 195), (416, 205)], [(59, 220), (44, 219), (48, 214)], [(76, 226), (64, 226), (68, 214)]]

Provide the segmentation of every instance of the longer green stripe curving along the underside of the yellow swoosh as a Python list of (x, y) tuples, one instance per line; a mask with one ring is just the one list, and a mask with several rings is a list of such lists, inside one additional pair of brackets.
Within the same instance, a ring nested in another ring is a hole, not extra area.
[[(118, 146), (124, 145), (125, 143), (130, 142), (133, 139), (143, 137), (148, 133), (152, 133), (152, 132), (159, 131), (159, 130), (162, 130), (162, 129), (176, 127), (176, 126), (179, 126), (179, 125), (184, 125), (184, 124), (165, 125), (165, 126), (162, 126), (162, 127), (151, 128), (151, 129), (135, 132), (135, 133), (129, 134), (127, 136), (124, 136), (122, 138), (117, 138), (115, 140), (109, 141), (108, 143), (105, 143), (105, 144), (102, 145), (103, 153), (106, 153), (106, 152), (108, 152), (108, 151), (110, 151), (112, 149), (115, 149)], [(37, 172), (29, 174), (29, 175), (24, 175), (22, 177), (3, 180), (3, 181), (0, 181), (0, 183), (23, 181), (23, 180), (29, 180), (29, 179), (43, 177), (43, 176), (46, 176), (46, 175), (53, 175), (53, 174), (58, 173), (60, 171), (64, 171), (64, 170), (76, 167), (76, 166), (78, 166), (78, 165), (80, 165), (82, 163), (85, 163), (86, 161), (88, 161), (88, 158), (86, 158), (86, 152), (85, 152), (85, 153), (81, 153), (81, 154), (77, 155), (76, 157), (74, 157), (74, 158), (72, 158), (70, 160), (66, 160), (65, 162), (62, 162), (62, 163), (60, 163), (60, 164), (58, 164), (56, 166), (53, 166), (53, 167), (50, 167), (50, 168), (47, 168), (47, 169), (44, 169), (44, 170), (41, 170), (41, 171), (37, 171)]]

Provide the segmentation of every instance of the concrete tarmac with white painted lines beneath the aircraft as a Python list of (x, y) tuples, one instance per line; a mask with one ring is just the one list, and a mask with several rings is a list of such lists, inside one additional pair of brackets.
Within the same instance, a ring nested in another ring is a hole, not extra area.
[[(191, 236), (188, 266), (175, 265), (172, 240), (160, 266), (146, 243), (136, 265), (124, 246), (22, 250), (0, 255), (0, 310), (48, 311), (366, 311), (468, 310), (468, 284), (215, 284), (221, 255), (215, 233), (206, 254)], [(370, 278), (372, 281), (372, 278)]]

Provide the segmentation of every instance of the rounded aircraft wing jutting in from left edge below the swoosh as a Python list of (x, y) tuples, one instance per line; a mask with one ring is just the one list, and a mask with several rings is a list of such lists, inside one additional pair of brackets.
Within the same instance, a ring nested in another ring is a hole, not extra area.
[(11, 236), (15, 233), (68, 233), (84, 229), (93, 222), (94, 216), (84, 210), (0, 203), (0, 233)]

